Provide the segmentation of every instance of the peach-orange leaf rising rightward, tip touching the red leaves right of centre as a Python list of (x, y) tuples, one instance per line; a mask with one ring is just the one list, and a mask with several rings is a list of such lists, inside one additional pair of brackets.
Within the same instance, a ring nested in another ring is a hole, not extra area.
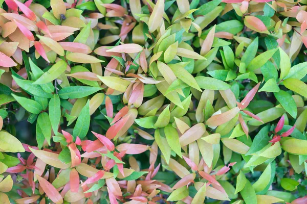
[(206, 124), (209, 126), (218, 126), (224, 124), (234, 118), (239, 111), (240, 109), (238, 107), (234, 107), (233, 109), (230, 109), (229, 111), (226, 111), (224, 113), (211, 116), (206, 121)]

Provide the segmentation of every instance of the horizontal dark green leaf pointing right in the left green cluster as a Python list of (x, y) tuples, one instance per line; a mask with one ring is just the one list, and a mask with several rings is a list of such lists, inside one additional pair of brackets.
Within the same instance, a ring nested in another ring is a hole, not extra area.
[(89, 86), (67, 86), (62, 88), (58, 94), (59, 97), (63, 99), (83, 98), (101, 89), (102, 88), (100, 87), (89, 87)]

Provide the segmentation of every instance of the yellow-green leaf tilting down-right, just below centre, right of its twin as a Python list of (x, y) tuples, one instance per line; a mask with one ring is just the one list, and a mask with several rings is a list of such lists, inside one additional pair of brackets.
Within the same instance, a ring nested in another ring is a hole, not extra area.
[(171, 124), (168, 124), (166, 127), (164, 127), (164, 134), (170, 148), (176, 152), (180, 158), (182, 158), (179, 135), (176, 128), (174, 128)]

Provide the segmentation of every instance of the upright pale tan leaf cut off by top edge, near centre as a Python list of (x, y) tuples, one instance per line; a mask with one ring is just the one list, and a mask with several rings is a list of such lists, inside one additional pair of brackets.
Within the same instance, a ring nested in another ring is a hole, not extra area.
[(164, 1), (158, 0), (157, 4), (152, 10), (152, 13), (148, 19), (148, 29), (150, 33), (153, 33), (159, 27), (161, 21), (163, 21), (164, 13)]

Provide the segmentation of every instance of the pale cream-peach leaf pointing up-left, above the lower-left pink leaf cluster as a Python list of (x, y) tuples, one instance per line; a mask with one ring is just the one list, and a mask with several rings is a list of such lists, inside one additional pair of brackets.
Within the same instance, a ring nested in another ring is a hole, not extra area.
[(46, 164), (49, 164), (51, 166), (54, 166), (54, 167), (60, 168), (60, 169), (67, 169), (67, 168), (70, 167), (70, 164), (62, 163), (58, 159), (59, 155), (55, 154), (54, 152), (44, 151), (44, 150), (36, 150), (36, 149), (31, 148), (31, 147), (29, 147), (29, 149), (30, 149), (30, 151), (33, 152), (35, 157), (41, 159)]

